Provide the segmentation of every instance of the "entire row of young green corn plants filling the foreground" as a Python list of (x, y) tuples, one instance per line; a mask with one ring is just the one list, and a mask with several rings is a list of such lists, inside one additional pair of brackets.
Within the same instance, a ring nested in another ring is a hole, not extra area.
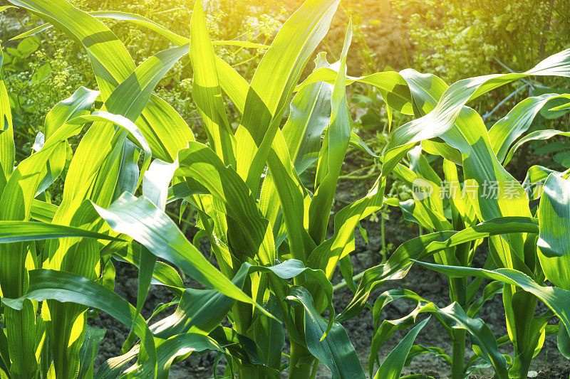
[[(527, 133), (549, 100), (564, 100), (556, 108), (564, 111), (570, 96), (529, 97), (490, 129), (468, 107), (515, 80), (569, 78), (570, 50), (524, 73), (450, 86), (411, 69), (353, 78), (346, 75), (349, 22), (340, 59), (328, 63), (318, 54), (301, 81), (339, 0), (305, 1), (271, 46), (210, 41), (199, 0), (190, 36), (135, 14), (88, 14), (66, 0), (10, 2), (43, 18), (41, 28), (53, 25), (81, 44), (98, 90), (80, 87), (53, 107), (35, 151), (14, 167), (9, 88), (0, 81), (2, 378), (167, 378), (173, 363), (207, 351), (227, 360), (224, 378), (315, 378), (319, 365), (333, 378), (399, 378), (404, 365), (423, 353), (443, 357), (453, 379), (484, 367), (495, 378), (527, 378), (545, 335), (553, 333), (570, 358), (570, 172), (532, 166), (523, 186), (504, 168), (523, 144), (570, 137), (550, 129)], [(137, 67), (100, 18), (135, 23), (173, 47)], [(213, 46), (223, 44), (266, 49), (251, 82), (214, 54)], [(185, 55), (205, 144), (152, 94)], [(353, 82), (375, 87), (389, 114), (415, 117), (392, 130), (383, 156), (351, 129), (346, 87)], [(242, 116), (235, 131), (227, 98)], [(69, 161), (67, 140), (76, 135), (81, 142)], [(381, 161), (382, 169), (366, 196), (331, 219), (349, 146)], [(316, 175), (307, 185), (300, 177), (310, 167)], [(63, 199), (54, 205), (46, 191), (64, 171)], [(388, 174), (406, 183), (413, 199), (385, 198)], [(196, 210), (199, 236), (209, 239), (215, 265), (165, 212), (180, 199)], [(429, 233), (404, 242), (357, 284), (350, 260), (355, 230), (383, 205), (400, 208)], [(483, 242), (489, 255), (475, 267)], [(113, 292), (116, 260), (138, 268), (135, 305)], [(371, 297), (412, 265), (447, 276), (449, 306), (403, 288)], [(333, 308), (331, 283), (337, 267), (353, 291), (340, 312)], [(206, 289), (186, 288), (181, 275)], [(173, 297), (155, 309), (152, 321), (140, 313), (151, 283)], [(477, 316), (501, 293), (508, 335), (497, 337)], [(395, 299), (415, 309), (383, 319), (383, 308)], [(539, 301), (549, 310), (537, 316)], [(168, 306), (176, 310), (165, 311)], [(366, 306), (375, 328), (362, 365), (342, 323)], [(123, 355), (97, 370), (104, 331), (86, 324), (94, 310), (130, 329)], [(427, 323), (419, 320), (423, 313), (449, 334), (451, 355), (413, 344)], [(549, 324), (552, 319), (558, 324)], [(380, 346), (412, 326), (380, 362)], [(510, 355), (499, 351), (506, 343)]]

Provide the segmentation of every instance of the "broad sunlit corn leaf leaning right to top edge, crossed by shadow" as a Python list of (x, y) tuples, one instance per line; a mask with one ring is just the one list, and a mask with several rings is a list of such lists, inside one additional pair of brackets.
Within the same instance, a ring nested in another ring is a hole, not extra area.
[(338, 2), (306, 1), (281, 27), (252, 78), (236, 132), (237, 172), (256, 195), (282, 114), (307, 60), (326, 35)]

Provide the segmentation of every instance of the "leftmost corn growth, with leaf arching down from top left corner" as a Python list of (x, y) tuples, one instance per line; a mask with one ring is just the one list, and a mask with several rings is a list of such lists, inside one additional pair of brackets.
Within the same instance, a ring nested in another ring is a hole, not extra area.
[[(11, 120), (9, 110), (6, 109), (9, 102), (3, 97), (4, 124), (7, 130), (2, 133), (2, 167), (5, 178), (1, 198), (2, 220), (17, 220), (21, 223), (31, 219), (40, 220), (44, 229), (52, 225), (63, 230), (57, 232), (56, 228), (51, 235), (45, 231), (42, 234), (41, 229), (34, 232), (34, 228), (38, 228), (37, 223), (26, 223), (31, 230), (15, 239), (8, 237), (6, 242), (9, 243), (1, 245), (3, 253), (11, 257), (1, 264), (2, 296), (17, 299), (26, 290), (31, 294), (31, 300), (16, 301), (12, 307), (8, 305), (8, 300), (3, 299), (6, 323), (3, 370), (6, 375), (16, 378), (93, 375), (92, 363), (95, 357), (93, 351), (85, 348), (89, 344), (98, 345), (98, 341), (93, 339), (96, 338), (96, 333), (86, 333), (85, 315), (88, 306), (95, 306), (96, 303), (99, 304), (97, 308), (109, 311), (128, 327), (133, 327), (133, 331), (142, 337), (145, 353), (152, 361), (156, 361), (155, 346), (147, 324), (135, 309), (131, 313), (130, 306), (109, 290), (113, 283), (113, 262), (109, 259), (109, 253), (100, 255), (103, 245), (97, 237), (101, 238), (101, 233), (89, 231), (102, 231), (100, 229), (103, 225), (97, 220), (97, 213), (90, 201), (108, 206), (128, 188), (135, 191), (139, 181), (137, 161), (140, 155), (135, 143), (145, 151), (145, 169), (150, 164), (151, 147), (155, 156), (168, 160), (177, 149), (185, 145), (185, 141), (192, 138), (192, 134), (172, 107), (151, 96), (152, 88), (160, 79), (160, 73), (153, 75), (152, 60), (135, 70), (133, 60), (118, 40), (89, 39), (91, 33), (100, 37), (105, 36), (105, 33), (112, 35), (102, 23), (66, 2), (17, 5), (31, 10), (49, 9), (46, 17), (54, 23), (57, 22), (51, 11), (65, 15), (67, 19), (62, 21), (64, 23), (79, 21), (67, 30), (73, 33), (74, 38), (83, 41), (93, 58), (99, 91), (80, 88), (72, 97), (56, 105), (46, 117), (44, 135), (38, 138), (39, 151), (22, 161), (16, 169), (13, 169)], [(58, 25), (63, 27), (61, 23)], [(83, 28), (85, 26), (90, 31)], [(170, 60), (165, 64), (172, 65), (174, 62), (175, 60)], [(141, 73), (142, 80), (139, 82), (137, 78)], [(145, 77), (145, 73), (150, 73), (150, 77)], [(132, 87), (133, 80), (136, 88)], [(141, 103), (135, 104), (137, 101)], [(103, 105), (97, 106), (98, 112), (91, 113), (98, 102)], [(134, 122), (139, 118), (139, 126), (135, 126)], [(115, 119), (117, 124), (110, 119)], [(88, 122), (93, 124), (71, 160), (63, 201), (56, 206), (49, 201), (38, 200), (36, 194), (43, 193), (65, 166), (66, 139), (80, 133), (83, 124)], [(156, 127), (156, 132), (152, 133), (154, 137), (142, 137), (140, 129), (146, 127), (145, 132), (149, 132), (152, 125), (162, 123), (165, 127)], [(94, 151), (97, 154), (93, 154)], [(14, 229), (14, 226), (11, 228)], [(41, 244), (26, 242), (43, 240), (45, 237), (60, 238)], [(108, 236), (103, 238), (114, 239)], [(157, 265), (162, 266), (163, 264)], [(60, 279), (48, 279), (51, 275), (59, 276)], [(67, 279), (61, 275), (67, 275)], [(48, 287), (52, 286), (51, 290), (33, 287), (35, 277), (46, 279), (42, 282)], [(50, 280), (53, 281), (51, 284)], [(64, 289), (65, 285), (59, 287), (59, 292), (53, 289), (53, 285), (58, 285), (57, 282), (64, 284), (66, 280), (68, 289)], [(81, 283), (85, 286), (84, 290), (91, 288), (93, 294), (99, 294), (89, 297), (81, 291)], [(34, 288), (40, 293), (36, 297), (33, 297)], [(76, 291), (78, 289), (79, 292)], [(51, 295), (41, 295), (46, 291), (51, 292)], [(41, 317), (36, 317), (38, 301), (43, 301)], [(101, 338), (100, 334), (98, 336)], [(86, 338), (92, 340), (86, 341)]]

